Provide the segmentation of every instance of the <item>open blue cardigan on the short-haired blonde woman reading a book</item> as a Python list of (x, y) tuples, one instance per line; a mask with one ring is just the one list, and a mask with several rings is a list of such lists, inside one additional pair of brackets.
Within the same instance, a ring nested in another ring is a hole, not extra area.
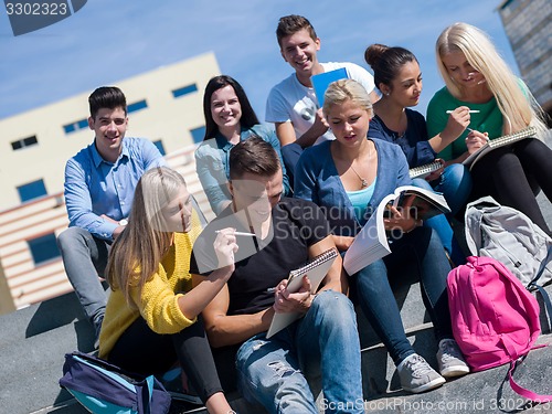
[[(380, 201), (400, 185), (411, 184), (408, 163), (401, 147), (380, 139), (372, 140), (378, 153), (378, 180), (364, 219), (378, 209)], [(307, 148), (295, 169), (295, 197), (318, 204), (326, 213), (333, 234), (354, 236), (362, 227), (341, 183), (331, 158), (331, 141)]]

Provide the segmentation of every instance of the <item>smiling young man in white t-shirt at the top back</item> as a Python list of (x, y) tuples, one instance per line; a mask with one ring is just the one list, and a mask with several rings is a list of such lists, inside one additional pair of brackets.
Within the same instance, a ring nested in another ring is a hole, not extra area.
[(373, 76), (354, 63), (319, 63), (317, 52), (320, 39), (310, 22), (301, 15), (279, 19), (276, 38), (284, 60), (295, 73), (274, 86), (266, 102), (266, 121), (274, 123), (282, 145), (282, 156), (290, 183), (293, 172), (304, 148), (321, 140), (333, 139), (322, 110), (317, 105), (310, 77), (319, 73), (346, 67), (349, 77), (361, 83), (372, 102), (379, 99)]

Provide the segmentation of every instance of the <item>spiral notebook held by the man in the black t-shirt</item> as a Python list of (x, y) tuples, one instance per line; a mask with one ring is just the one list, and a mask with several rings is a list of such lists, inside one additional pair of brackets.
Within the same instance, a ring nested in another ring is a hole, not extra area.
[[(338, 257), (338, 254), (339, 253), (336, 248), (330, 248), (323, 253), (320, 253), (305, 266), (289, 272), (289, 277), (287, 279), (287, 289), (290, 293), (296, 293), (302, 285), (302, 278), (305, 276), (308, 276), (311, 287), (310, 291), (315, 294), (318, 290), (318, 286), (320, 286), (320, 283), (328, 274), (328, 270), (333, 264), (333, 261), (336, 259), (336, 257)], [(270, 323), (270, 328), (266, 333), (266, 338), (270, 338), (273, 335), (279, 332), (282, 329), (287, 327), (293, 321), (299, 319), (300, 317), (300, 312), (274, 314), (274, 318)]]

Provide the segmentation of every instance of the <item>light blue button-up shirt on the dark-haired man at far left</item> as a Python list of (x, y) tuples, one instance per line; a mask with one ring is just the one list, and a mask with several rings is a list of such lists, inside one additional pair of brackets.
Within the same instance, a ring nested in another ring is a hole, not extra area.
[(119, 221), (128, 217), (136, 184), (153, 167), (166, 166), (157, 147), (144, 138), (124, 138), (115, 162), (105, 161), (93, 142), (65, 166), (65, 206), (70, 227), (85, 229), (96, 237), (110, 240)]

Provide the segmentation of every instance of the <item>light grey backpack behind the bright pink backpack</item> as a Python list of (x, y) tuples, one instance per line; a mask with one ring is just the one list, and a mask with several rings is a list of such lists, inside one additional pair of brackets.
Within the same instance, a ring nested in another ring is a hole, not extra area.
[(465, 221), (473, 255), (501, 262), (529, 289), (552, 282), (552, 238), (526, 214), (484, 197), (467, 205)]

